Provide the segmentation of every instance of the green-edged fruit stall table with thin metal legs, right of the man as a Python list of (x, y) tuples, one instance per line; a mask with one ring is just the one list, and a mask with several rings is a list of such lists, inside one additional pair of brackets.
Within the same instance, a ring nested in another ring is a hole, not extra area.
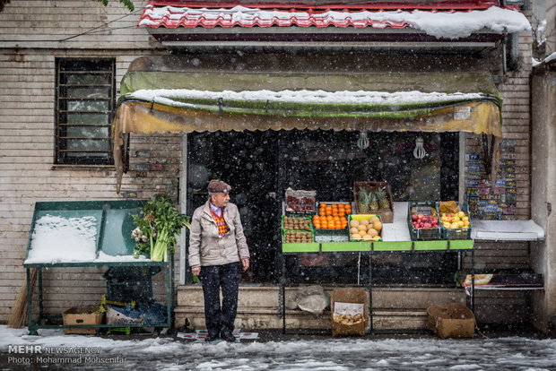
[[(432, 240), (432, 241), (357, 241), (357, 242), (309, 242), (296, 244), (282, 244), (281, 271), (279, 282), (280, 309), (282, 315), (282, 333), (286, 332), (285, 288), (288, 285), (284, 255), (298, 254), (330, 254), (330, 253), (361, 253), (369, 259), (369, 290), (370, 331), (372, 332), (372, 259), (375, 252), (431, 252), (431, 251), (467, 251), (471, 250), (472, 285), (474, 285), (474, 248), (472, 239), (463, 240)], [(473, 292), (473, 290), (472, 290)], [(472, 296), (472, 307), (474, 304)], [(473, 310), (473, 308), (472, 308)], [(474, 311), (473, 311), (474, 312)]]

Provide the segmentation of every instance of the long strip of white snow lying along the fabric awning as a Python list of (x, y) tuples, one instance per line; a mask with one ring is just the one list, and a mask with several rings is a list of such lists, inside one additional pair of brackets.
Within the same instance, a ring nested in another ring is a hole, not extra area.
[[(224, 99), (247, 101), (281, 101), (298, 103), (360, 103), (360, 104), (403, 104), (437, 102), (447, 100), (481, 99), (481, 93), (443, 93), (421, 91), (195, 91), (188, 89), (140, 90), (127, 98), (155, 100), (163, 104), (179, 104), (173, 99)], [(181, 103), (188, 106), (187, 103)]]

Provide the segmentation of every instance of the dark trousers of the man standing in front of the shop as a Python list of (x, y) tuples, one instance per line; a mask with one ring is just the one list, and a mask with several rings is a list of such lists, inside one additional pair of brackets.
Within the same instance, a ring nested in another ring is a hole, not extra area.
[(203, 285), (204, 324), (208, 335), (233, 332), (238, 311), (239, 263), (201, 267), (199, 279)]

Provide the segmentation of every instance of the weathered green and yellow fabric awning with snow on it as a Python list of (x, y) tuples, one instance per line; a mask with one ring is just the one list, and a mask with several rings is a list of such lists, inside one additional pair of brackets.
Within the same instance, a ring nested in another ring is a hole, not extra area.
[(120, 91), (112, 128), (118, 191), (129, 133), (321, 129), (501, 136), (500, 92), (482, 73), (131, 71)]

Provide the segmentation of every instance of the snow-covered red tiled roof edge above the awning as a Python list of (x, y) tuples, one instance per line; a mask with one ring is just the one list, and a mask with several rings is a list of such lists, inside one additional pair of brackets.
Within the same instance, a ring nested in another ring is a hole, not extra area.
[(531, 30), (526, 16), (514, 7), (491, 6), (486, 10), (446, 12), (395, 10), (335, 11), (324, 12), (291, 9), (265, 10), (253, 7), (192, 8), (187, 6), (154, 6), (148, 4), (138, 26), (177, 28), (214, 27), (273, 27), (300, 26), (324, 28), (328, 26), (355, 28), (410, 27), (436, 38), (460, 39), (473, 32), (488, 29), (495, 33), (513, 33)]

